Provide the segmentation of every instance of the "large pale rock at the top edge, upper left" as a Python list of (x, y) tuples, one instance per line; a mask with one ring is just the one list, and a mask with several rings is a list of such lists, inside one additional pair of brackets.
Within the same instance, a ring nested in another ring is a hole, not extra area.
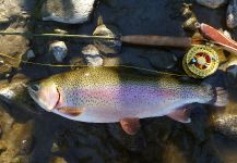
[(95, 0), (47, 0), (42, 9), (43, 21), (78, 24), (88, 20)]

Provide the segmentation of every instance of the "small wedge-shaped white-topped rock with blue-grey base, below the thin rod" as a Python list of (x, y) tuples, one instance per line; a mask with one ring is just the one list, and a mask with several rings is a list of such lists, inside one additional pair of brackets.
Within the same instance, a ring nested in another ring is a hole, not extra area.
[(62, 62), (67, 57), (68, 48), (63, 41), (55, 41), (50, 45), (49, 51), (54, 54), (57, 62)]

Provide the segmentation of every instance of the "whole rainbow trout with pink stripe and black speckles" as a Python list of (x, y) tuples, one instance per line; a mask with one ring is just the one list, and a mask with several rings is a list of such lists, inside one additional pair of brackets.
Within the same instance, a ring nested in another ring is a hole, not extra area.
[(81, 122), (120, 122), (131, 135), (140, 126), (139, 118), (168, 115), (189, 123), (187, 104), (225, 106), (227, 103), (227, 93), (220, 87), (126, 72), (115, 67), (85, 67), (33, 83), (28, 91), (46, 111)]

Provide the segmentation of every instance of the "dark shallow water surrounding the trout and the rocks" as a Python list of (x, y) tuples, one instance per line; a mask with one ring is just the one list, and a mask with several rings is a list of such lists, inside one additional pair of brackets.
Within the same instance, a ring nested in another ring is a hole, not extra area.
[[(182, 2), (188, 0), (103, 0), (96, 7), (92, 20), (82, 25), (63, 25), (54, 22), (42, 22), (37, 14), (28, 23), (33, 33), (52, 32), (54, 28), (66, 29), (69, 33), (91, 35), (96, 27), (98, 16), (105, 24), (118, 27), (122, 35), (171, 35), (186, 36), (181, 24), (185, 21), (179, 14)], [(25, 0), (25, 5), (29, 4)], [(0, 4), (1, 5), (1, 4)], [(27, 8), (32, 13), (37, 11), (40, 2)], [(193, 4), (193, 11), (199, 22), (204, 22), (216, 28), (225, 27), (226, 7), (210, 10)], [(17, 17), (17, 16), (16, 16)], [(13, 20), (15, 21), (15, 20)], [(11, 23), (14, 24), (13, 22)], [(17, 18), (16, 23), (17, 24)], [(5, 28), (2, 25), (1, 28)], [(13, 25), (14, 26), (14, 25)], [(17, 25), (16, 25), (17, 26)], [(233, 32), (235, 36), (235, 30)], [(48, 45), (54, 38), (35, 38), (29, 47), (36, 53), (34, 62), (49, 63)], [(69, 55), (64, 63), (81, 57), (85, 43), (75, 39), (64, 40)], [(12, 47), (5, 47), (12, 48)], [(147, 48), (123, 45), (119, 54), (107, 55), (121, 59), (122, 64), (154, 70), (149, 58), (161, 60), (161, 52), (174, 53), (178, 61), (173, 72), (183, 73), (180, 61), (185, 49)], [(21, 73), (36, 80), (69, 68), (22, 65)], [(163, 70), (158, 70), (163, 71)], [(73, 122), (52, 113), (43, 111), (23, 92), (23, 98), (29, 103), (2, 102), (0, 108), (0, 160), (2, 162), (54, 162), (52, 158), (63, 158), (68, 163), (78, 162), (236, 162), (237, 134), (222, 133), (215, 128), (212, 118), (215, 115), (236, 115), (236, 87), (230, 87), (226, 74), (218, 72), (206, 79), (213, 86), (228, 86), (230, 102), (227, 108), (218, 109), (203, 104), (192, 105), (192, 123), (180, 124), (168, 117), (141, 120), (141, 129), (135, 136), (126, 135), (118, 123), (88, 124)], [(19, 102), (16, 100), (16, 102)], [(25, 106), (26, 104), (27, 106)], [(23, 105), (23, 106), (22, 106)], [(216, 113), (217, 112), (217, 113)], [(237, 122), (232, 124), (237, 126)], [(228, 128), (227, 124), (224, 129)], [(24, 141), (25, 140), (25, 141)], [(15, 149), (15, 151), (13, 150)], [(20, 151), (20, 152), (19, 152)], [(12, 156), (14, 155), (14, 156)], [(57, 162), (57, 161), (55, 161)], [(58, 160), (58, 162), (60, 162)]]

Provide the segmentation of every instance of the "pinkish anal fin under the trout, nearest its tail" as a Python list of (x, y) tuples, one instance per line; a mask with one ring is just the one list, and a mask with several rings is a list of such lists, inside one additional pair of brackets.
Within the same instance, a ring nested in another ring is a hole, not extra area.
[(167, 116), (181, 123), (190, 123), (191, 118), (189, 117), (189, 109), (182, 108), (175, 110), (174, 112), (167, 114)]

